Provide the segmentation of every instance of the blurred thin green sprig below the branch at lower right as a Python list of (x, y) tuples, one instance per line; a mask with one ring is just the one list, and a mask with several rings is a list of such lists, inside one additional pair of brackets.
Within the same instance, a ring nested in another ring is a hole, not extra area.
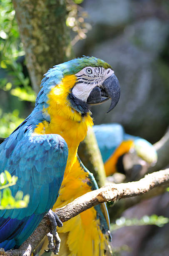
[(142, 226), (142, 225), (157, 225), (162, 227), (164, 224), (169, 223), (169, 218), (165, 218), (164, 216), (157, 216), (155, 214), (151, 216), (143, 216), (141, 219), (132, 218), (127, 219), (121, 217), (116, 220), (115, 224), (110, 225), (110, 230), (114, 231), (122, 227), (129, 227), (129, 226)]

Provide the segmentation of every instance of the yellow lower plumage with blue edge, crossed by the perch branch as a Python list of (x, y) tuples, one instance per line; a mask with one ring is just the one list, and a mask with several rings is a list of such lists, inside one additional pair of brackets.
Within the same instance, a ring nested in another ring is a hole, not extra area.
[[(97, 189), (97, 183), (78, 159), (70, 175), (63, 179), (60, 195), (53, 207), (63, 207), (85, 193)], [(61, 239), (60, 256), (110, 256), (109, 216), (106, 205), (97, 205), (63, 223), (57, 232)], [(46, 253), (47, 237), (37, 246), (34, 256), (54, 256)]]

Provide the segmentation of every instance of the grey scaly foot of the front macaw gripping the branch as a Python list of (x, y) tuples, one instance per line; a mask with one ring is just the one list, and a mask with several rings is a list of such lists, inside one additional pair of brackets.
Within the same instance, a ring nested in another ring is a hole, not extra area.
[(59, 219), (57, 214), (52, 210), (49, 210), (47, 213), (48, 218), (50, 219), (52, 230), (47, 234), (47, 238), (49, 241), (48, 248), (49, 250), (45, 250), (46, 252), (52, 251), (54, 254), (59, 254), (60, 249), (60, 237), (57, 233), (56, 227), (62, 227), (62, 221)]

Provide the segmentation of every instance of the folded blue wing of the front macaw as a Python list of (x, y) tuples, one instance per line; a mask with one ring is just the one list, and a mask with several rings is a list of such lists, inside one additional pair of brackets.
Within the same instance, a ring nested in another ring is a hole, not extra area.
[(0, 170), (18, 177), (12, 195), (18, 190), (30, 194), (27, 208), (0, 210), (0, 247), (5, 250), (20, 246), (54, 205), (67, 163), (65, 140), (57, 134), (32, 136), (35, 126), (27, 120), (0, 144)]

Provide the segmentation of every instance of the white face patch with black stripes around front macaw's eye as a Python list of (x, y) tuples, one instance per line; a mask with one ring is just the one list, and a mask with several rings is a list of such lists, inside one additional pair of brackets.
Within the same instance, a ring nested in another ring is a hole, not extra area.
[(103, 67), (85, 67), (77, 74), (77, 83), (72, 89), (72, 93), (78, 99), (87, 102), (90, 92), (94, 87), (101, 87), (104, 80), (114, 74), (112, 69)]

